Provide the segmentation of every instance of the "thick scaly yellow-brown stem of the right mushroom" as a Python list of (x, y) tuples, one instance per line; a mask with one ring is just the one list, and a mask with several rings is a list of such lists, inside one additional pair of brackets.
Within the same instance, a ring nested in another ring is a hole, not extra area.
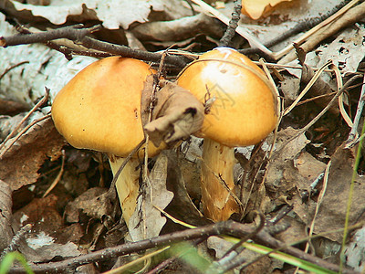
[(201, 174), (203, 210), (205, 216), (216, 222), (227, 220), (239, 210), (230, 194), (235, 194), (235, 163), (233, 148), (204, 139)]

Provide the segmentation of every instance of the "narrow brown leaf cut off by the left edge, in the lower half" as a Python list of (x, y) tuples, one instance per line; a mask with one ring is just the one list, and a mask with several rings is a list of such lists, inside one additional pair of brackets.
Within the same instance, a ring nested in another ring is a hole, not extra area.
[(12, 191), (9, 184), (0, 180), (0, 250), (6, 248), (13, 237), (11, 228)]

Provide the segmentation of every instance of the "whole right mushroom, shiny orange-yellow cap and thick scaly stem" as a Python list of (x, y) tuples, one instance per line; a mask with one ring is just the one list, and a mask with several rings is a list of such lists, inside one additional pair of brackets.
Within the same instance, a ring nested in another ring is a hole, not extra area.
[(202, 202), (214, 221), (239, 211), (235, 200), (234, 147), (262, 141), (277, 123), (276, 93), (264, 72), (249, 58), (217, 47), (193, 61), (178, 84), (205, 105), (203, 127)]

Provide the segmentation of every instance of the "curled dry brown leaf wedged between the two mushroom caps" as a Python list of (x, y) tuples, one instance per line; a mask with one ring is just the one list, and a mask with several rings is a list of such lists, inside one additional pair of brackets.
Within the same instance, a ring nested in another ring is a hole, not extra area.
[[(151, 89), (147, 79), (142, 97), (150, 98)], [(196, 100), (191, 92), (179, 87), (175, 83), (160, 80), (161, 90), (156, 92), (157, 103), (152, 111), (152, 120), (146, 124), (143, 120), (143, 112), (146, 113), (148, 102), (142, 98), (142, 121), (144, 130), (149, 134), (154, 145), (159, 146), (161, 142), (173, 145), (175, 142), (188, 138), (194, 132), (201, 129), (203, 125), (203, 104)]]

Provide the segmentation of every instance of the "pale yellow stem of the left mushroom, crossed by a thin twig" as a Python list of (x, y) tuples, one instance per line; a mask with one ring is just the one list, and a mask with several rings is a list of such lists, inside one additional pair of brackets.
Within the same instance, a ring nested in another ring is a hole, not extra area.
[[(118, 172), (120, 165), (124, 162), (124, 160), (125, 158), (117, 156), (109, 157), (110, 168), (113, 175)], [(130, 216), (136, 209), (137, 197), (140, 190), (140, 171), (138, 169), (139, 164), (139, 159), (131, 158), (130, 161), (124, 166), (115, 183), (118, 197), (120, 199), (122, 216), (127, 224), (127, 227), (129, 226)]]

